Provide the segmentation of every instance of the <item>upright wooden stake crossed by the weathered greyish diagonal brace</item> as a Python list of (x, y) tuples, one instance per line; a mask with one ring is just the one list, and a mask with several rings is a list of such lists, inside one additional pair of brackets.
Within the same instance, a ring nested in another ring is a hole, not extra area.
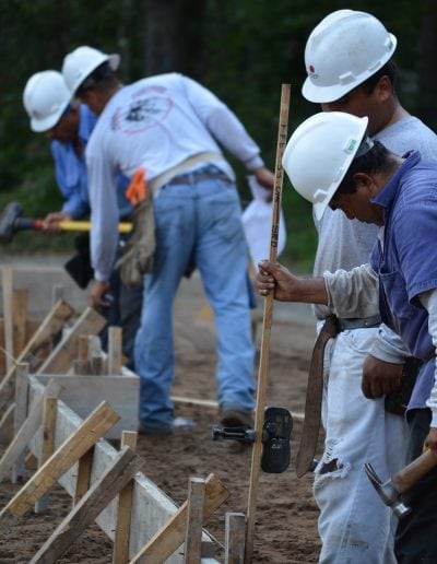
[[(129, 446), (132, 451), (137, 450), (138, 433), (123, 431), (121, 435), (121, 447)], [(125, 564), (129, 561), (129, 533), (132, 513), (133, 481), (123, 487), (118, 496), (117, 527), (114, 540), (113, 564)]]

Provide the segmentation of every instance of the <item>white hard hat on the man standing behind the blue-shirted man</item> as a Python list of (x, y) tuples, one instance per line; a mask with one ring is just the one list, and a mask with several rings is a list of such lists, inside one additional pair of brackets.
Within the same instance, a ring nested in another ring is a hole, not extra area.
[(334, 102), (375, 74), (393, 55), (397, 38), (375, 16), (338, 10), (308, 37), (302, 89), (310, 102)]

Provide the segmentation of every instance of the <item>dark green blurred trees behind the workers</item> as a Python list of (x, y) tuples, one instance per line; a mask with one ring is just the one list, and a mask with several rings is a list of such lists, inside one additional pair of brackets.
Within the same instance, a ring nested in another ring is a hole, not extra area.
[[(375, 14), (399, 40), (399, 96), (437, 130), (437, 3), (434, 0), (0, 0), (0, 208), (17, 200), (28, 216), (60, 208), (49, 142), (33, 133), (22, 92), (34, 72), (60, 69), (79, 45), (120, 52), (125, 82), (178, 71), (203, 83), (241, 119), (274, 167), (281, 84), (292, 84), (288, 133), (318, 106), (306, 102), (304, 49), (333, 10)], [(244, 204), (245, 171), (234, 162)], [(310, 207), (284, 180), (287, 245), (282, 259), (310, 269), (316, 247)], [(56, 250), (68, 236), (21, 234), (10, 250)]]

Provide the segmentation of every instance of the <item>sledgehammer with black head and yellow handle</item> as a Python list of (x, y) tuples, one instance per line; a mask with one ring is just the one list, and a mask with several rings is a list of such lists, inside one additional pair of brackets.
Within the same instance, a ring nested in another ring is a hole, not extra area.
[[(32, 220), (22, 218), (23, 208), (19, 202), (11, 202), (0, 216), (0, 243), (9, 243), (19, 231), (33, 230), (43, 231), (45, 227), (44, 220)], [(90, 231), (91, 222), (88, 221), (60, 221), (58, 223), (62, 231)], [(129, 233), (132, 228), (131, 223), (119, 223), (118, 231), (120, 233)]]

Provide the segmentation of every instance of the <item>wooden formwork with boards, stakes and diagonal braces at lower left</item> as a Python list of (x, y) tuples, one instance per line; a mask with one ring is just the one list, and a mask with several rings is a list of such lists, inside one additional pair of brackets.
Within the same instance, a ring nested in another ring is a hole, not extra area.
[[(5, 277), (7, 281), (12, 280), (9, 271)], [(14, 298), (14, 303), (19, 304), (15, 312), (20, 313), (19, 319), (23, 326), (26, 322), (26, 291), (13, 291), (12, 283), (7, 284), (7, 290), (17, 296)], [(50, 461), (52, 465), (54, 457), (64, 458), (64, 455), (59, 455), (62, 445), (76, 436), (81, 430), (81, 422), (83, 423), (78, 414), (58, 399), (61, 385), (56, 381), (56, 377), (62, 378), (67, 375), (55, 375), (54, 378), (52, 373), (79, 372), (74, 371), (74, 362), (78, 362), (74, 360), (78, 352), (76, 341), (83, 337), (84, 331), (91, 334), (97, 332), (103, 326), (103, 318), (95, 310), (87, 308), (74, 327), (70, 329), (69, 334), (58, 343), (43, 365), (37, 368), (35, 375), (28, 374), (28, 365), (26, 366), (23, 362), (32, 359), (36, 351), (52, 340), (73, 313), (73, 308), (62, 299), (57, 302), (27, 343), (21, 337), (19, 340), (21, 353), (17, 361), (9, 364), (9, 369), (0, 381), (0, 391), (3, 392), (7, 387), (11, 388), (14, 379), (17, 384), (15, 403), (10, 403), (3, 414), (3, 419), (5, 419), (11, 412), (14, 413), (16, 434), (0, 459), (0, 480), (11, 470), (11, 467), (13, 481), (16, 482), (17, 478), (23, 478), (24, 450), (27, 447), (29, 456), (39, 460), (39, 469), (35, 477), (43, 477), (39, 482), (37, 478), (33, 477), (0, 512), (0, 532), (16, 521), (20, 515), (29, 510), (32, 505), (34, 505), (35, 513), (42, 513), (47, 506), (47, 492), (50, 485), (59, 482), (72, 496), (73, 509), (35, 554), (32, 562), (56, 562), (57, 557), (95, 518), (101, 529), (114, 541), (113, 562), (116, 564), (128, 562), (129, 559), (132, 559), (131, 563), (146, 562), (147, 564), (161, 562), (216, 563), (214, 557), (216, 541), (206, 531), (203, 531), (202, 524), (223, 504), (229, 492), (214, 474), (210, 474), (206, 480), (191, 478), (188, 500), (177, 508), (153, 482), (138, 471), (142, 462), (140, 463), (139, 457), (134, 456), (137, 434), (129, 432), (122, 435), (121, 453), (115, 450), (103, 438), (97, 440), (94, 434), (93, 440), (95, 442), (73, 465), (70, 465), (71, 467), (67, 471), (63, 471), (64, 468), (62, 468), (62, 472), (55, 472), (55, 474), (47, 471), (47, 468), (50, 468)], [(10, 329), (12, 312), (9, 312), (8, 319), (8, 333), (12, 334)], [(122, 374), (126, 368), (122, 367), (121, 362), (119, 328), (113, 328), (110, 336), (113, 338), (106, 363), (107, 372), (110, 375)], [(16, 350), (11, 340), (7, 343), (7, 350), (8, 348)], [(130, 373), (130, 371), (127, 372)], [(28, 383), (25, 391), (23, 374), (24, 379)], [(46, 385), (38, 379), (38, 376), (46, 379)], [(109, 376), (104, 378), (106, 385), (108, 378)], [(3, 393), (0, 408), (4, 407), (8, 399), (10, 400), (11, 397)], [(27, 400), (29, 411), (23, 419), (23, 406), (27, 404)], [(175, 400), (197, 403), (196, 399), (190, 398), (175, 398)], [(99, 406), (96, 410), (102, 408), (103, 406)], [(111, 410), (110, 406), (108, 409)], [(117, 419), (115, 416), (114, 422)], [(81, 443), (83, 443), (83, 437), (81, 437)], [(115, 474), (117, 474), (117, 482), (114, 480)], [(36, 486), (35, 483), (37, 483)], [(115, 487), (116, 483), (118, 485)], [(113, 484), (113, 487), (109, 487), (110, 494), (108, 494), (108, 484)], [(238, 514), (238, 520), (228, 515), (237, 514), (226, 514), (225, 562), (231, 564), (239, 562), (239, 556), (236, 557), (236, 555), (244, 551), (244, 536), (238, 532), (241, 529), (243, 514)], [(66, 530), (70, 531), (68, 536), (64, 534)], [(232, 540), (234, 541), (232, 542)], [(185, 544), (185, 552), (180, 552), (182, 544)]]

